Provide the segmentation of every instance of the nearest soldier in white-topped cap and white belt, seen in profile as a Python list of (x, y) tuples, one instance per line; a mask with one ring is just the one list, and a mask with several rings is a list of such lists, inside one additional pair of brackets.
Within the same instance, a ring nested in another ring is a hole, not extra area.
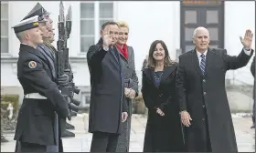
[(17, 61), (17, 78), (24, 90), (20, 107), (15, 140), (17, 152), (46, 152), (47, 146), (56, 144), (54, 113), (69, 117), (68, 103), (53, 81), (52, 72), (45, 56), (37, 50), (43, 43), (38, 16), (33, 16), (13, 26), (20, 41)]

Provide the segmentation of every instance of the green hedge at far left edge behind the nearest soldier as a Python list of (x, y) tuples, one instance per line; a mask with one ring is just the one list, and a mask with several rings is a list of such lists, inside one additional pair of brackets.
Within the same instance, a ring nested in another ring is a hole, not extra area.
[(1, 107), (12, 103), (15, 110), (18, 110), (18, 95), (1, 95)]

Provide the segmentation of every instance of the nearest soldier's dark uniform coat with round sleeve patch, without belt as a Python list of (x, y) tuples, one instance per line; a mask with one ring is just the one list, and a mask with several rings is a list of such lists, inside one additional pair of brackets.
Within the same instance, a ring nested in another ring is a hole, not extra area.
[(17, 78), (24, 89), (24, 95), (39, 93), (48, 99), (24, 98), (18, 113), (15, 139), (46, 146), (56, 145), (53, 133), (54, 111), (59, 117), (66, 118), (69, 107), (56, 83), (52, 81), (47, 59), (32, 46), (21, 44)]

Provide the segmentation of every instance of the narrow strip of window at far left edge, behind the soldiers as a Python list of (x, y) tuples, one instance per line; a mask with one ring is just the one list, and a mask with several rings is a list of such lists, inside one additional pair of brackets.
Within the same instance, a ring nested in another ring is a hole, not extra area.
[(8, 53), (8, 2), (1, 2), (1, 54)]

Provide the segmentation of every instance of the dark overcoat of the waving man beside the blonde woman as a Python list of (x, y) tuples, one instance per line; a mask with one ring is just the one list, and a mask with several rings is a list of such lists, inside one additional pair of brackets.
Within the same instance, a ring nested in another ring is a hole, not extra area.
[(115, 47), (103, 50), (100, 40), (90, 46), (87, 61), (91, 74), (89, 132), (119, 134), (122, 112), (127, 112), (127, 105), (123, 102), (123, 67), (118, 51)]

